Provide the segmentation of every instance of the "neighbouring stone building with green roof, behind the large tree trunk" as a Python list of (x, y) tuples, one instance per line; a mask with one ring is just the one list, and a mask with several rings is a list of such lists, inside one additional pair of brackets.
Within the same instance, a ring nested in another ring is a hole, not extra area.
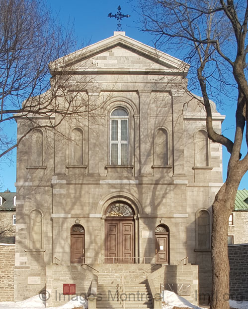
[(248, 190), (238, 190), (234, 212), (229, 218), (228, 243), (248, 243)]

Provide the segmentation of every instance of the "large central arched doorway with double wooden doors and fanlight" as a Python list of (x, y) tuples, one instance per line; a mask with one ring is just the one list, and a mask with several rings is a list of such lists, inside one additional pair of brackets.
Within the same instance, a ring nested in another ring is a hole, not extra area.
[(105, 219), (105, 263), (135, 263), (135, 224), (132, 207), (110, 204)]

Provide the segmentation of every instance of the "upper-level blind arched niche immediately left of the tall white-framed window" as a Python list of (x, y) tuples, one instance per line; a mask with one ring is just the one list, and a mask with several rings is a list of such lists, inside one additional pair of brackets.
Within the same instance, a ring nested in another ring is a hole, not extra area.
[(71, 133), (70, 164), (83, 165), (83, 131), (79, 128)]

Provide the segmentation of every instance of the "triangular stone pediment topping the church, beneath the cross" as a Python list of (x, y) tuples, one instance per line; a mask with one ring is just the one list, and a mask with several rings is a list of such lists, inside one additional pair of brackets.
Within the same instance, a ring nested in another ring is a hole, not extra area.
[(186, 75), (189, 65), (153, 47), (145, 45), (123, 32), (87, 46), (49, 65), (54, 75), (61, 71), (86, 74), (100, 73), (172, 73)]

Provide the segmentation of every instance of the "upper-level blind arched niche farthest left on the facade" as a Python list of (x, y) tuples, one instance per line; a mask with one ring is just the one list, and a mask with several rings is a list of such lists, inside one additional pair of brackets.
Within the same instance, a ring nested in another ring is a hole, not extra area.
[(31, 137), (31, 165), (43, 165), (43, 133), (41, 130), (36, 129), (32, 132)]

